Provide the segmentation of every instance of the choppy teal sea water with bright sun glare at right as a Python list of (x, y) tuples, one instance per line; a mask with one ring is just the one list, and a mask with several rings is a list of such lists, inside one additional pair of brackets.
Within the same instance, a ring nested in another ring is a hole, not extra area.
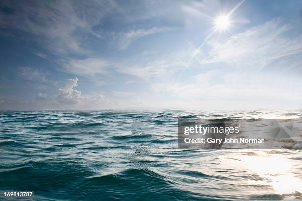
[[(0, 190), (34, 200), (299, 200), (301, 150), (181, 150), (177, 120), (264, 112), (0, 112)], [(302, 118), (299, 113), (284, 113)], [(0, 198), (3, 199), (3, 198)]]

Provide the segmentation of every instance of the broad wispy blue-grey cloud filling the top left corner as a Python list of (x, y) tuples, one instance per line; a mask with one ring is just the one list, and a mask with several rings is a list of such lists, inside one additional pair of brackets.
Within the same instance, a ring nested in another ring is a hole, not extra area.
[[(53, 53), (86, 53), (84, 37), (101, 37), (92, 27), (113, 7), (112, 0), (100, 1), (27, 1), (3, 2), (12, 13), (0, 13), (0, 26), (31, 33), (35, 41)], [(86, 41), (85, 41), (86, 42)]]

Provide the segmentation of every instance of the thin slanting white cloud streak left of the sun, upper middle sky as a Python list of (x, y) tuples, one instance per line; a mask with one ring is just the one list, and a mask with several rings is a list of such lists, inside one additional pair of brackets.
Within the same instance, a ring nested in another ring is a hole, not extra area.
[(121, 33), (120, 34), (120, 39), (119, 39), (119, 49), (125, 49), (130, 45), (130, 43), (138, 38), (155, 34), (155, 33), (160, 33), (160, 32), (167, 32), (174, 30), (175, 28), (171, 27), (153, 27), (151, 29), (134, 29), (130, 30), (126, 33)]

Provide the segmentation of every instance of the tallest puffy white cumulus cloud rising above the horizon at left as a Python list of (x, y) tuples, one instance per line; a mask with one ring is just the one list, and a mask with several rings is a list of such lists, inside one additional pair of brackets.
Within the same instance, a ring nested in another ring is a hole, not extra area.
[(74, 89), (77, 87), (78, 78), (68, 79), (65, 86), (58, 89), (56, 100), (63, 104), (78, 104), (83, 99), (82, 93)]

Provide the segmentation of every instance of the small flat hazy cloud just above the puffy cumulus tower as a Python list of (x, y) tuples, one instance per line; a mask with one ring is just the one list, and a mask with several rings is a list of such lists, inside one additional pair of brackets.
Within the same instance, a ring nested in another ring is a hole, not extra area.
[(103, 59), (88, 58), (83, 60), (70, 60), (63, 63), (63, 71), (83, 76), (104, 73), (111, 63)]

